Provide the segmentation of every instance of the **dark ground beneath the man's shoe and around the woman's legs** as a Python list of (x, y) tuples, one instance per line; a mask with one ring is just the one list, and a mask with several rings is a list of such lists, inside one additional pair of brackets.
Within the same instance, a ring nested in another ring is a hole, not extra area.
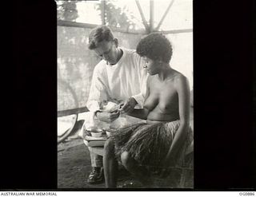
[[(166, 179), (154, 179), (154, 187), (152, 188), (193, 188), (194, 171), (186, 171), (186, 176), (182, 172), (184, 171), (176, 169), (171, 171)], [(89, 150), (83, 144), (82, 139), (76, 138), (58, 144), (58, 188), (93, 189), (96, 191), (97, 188), (105, 188), (105, 183), (96, 185), (87, 183), (86, 179), (89, 174)], [(119, 167), (118, 187), (120, 188), (124, 183), (130, 183), (131, 181), (138, 183), (128, 171)], [(141, 187), (137, 184), (136, 187), (132, 188)]]

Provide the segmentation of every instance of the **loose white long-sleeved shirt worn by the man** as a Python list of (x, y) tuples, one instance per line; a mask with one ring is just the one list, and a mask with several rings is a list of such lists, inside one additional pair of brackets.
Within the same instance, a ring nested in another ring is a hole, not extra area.
[(148, 74), (143, 69), (142, 58), (135, 50), (120, 49), (123, 54), (117, 64), (107, 65), (102, 60), (94, 68), (86, 104), (90, 112), (100, 109), (102, 100), (120, 102), (134, 97), (138, 102), (136, 108), (143, 106)]

